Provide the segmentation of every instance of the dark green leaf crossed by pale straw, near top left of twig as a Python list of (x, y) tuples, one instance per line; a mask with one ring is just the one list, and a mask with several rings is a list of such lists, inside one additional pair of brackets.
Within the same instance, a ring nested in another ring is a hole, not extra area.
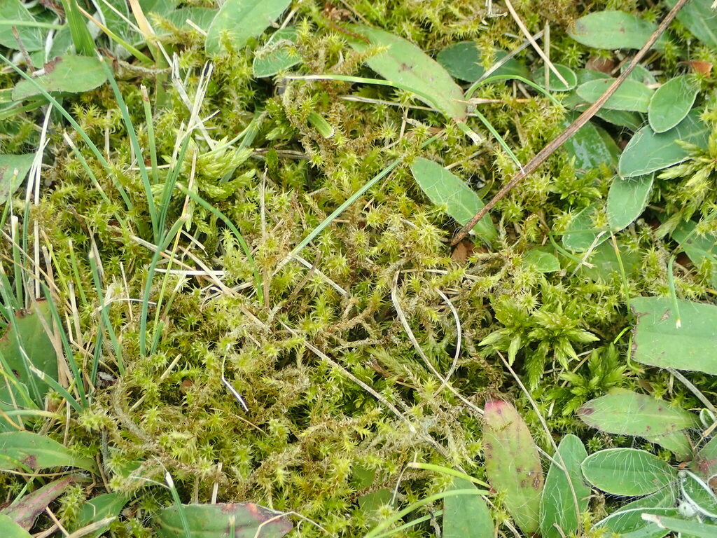
[[(496, 50), (493, 54), (494, 63), (500, 62), (507, 55), (508, 52)], [(450, 44), (438, 53), (436, 60), (445, 67), (452, 77), (466, 82), (475, 82), (486, 72), (483, 67), (483, 55), (480, 54), (480, 48), (475, 41)], [(498, 69), (491, 72), (491, 75), (517, 75), (523, 78), (530, 77), (530, 74), (528, 67), (515, 58), (507, 60)]]

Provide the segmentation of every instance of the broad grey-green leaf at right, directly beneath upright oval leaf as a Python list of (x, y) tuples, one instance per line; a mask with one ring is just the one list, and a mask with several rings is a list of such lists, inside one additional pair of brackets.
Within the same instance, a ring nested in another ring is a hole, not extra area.
[(655, 133), (650, 126), (641, 128), (622, 151), (619, 174), (623, 177), (644, 176), (681, 163), (689, 154), (678, 145), (678, 140), (706, 148), (710, 129), (699, 115), (697, 110), (691, 110), (683, 121), (665, 133)]

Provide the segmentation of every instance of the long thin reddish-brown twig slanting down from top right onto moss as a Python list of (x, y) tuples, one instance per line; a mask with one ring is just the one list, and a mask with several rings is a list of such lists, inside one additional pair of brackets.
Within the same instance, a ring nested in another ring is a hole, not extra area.
[(663, 22), (660, 23), (660, 26), (657, 27), (655, 32), (652, 32), (650, 39), (647, 39), (647, 42), (642, 46), (642, 49), (637, 51), (637, 54), (634, 58), (632, 58), (632, 62), (630, 62), (630, 65), (628, 65), (625, 71), (623, 71), (622, 74), (612, 82), (609, 88), (605, 90), (605, 93), (603, 93), (597, 101), (592, 103), (589, 108), (586, 108), (585, 111), (581, 115), (579, 115), (579, 117), (573, 123), (571, 123), (568, 128), (566, 128), (565, 131), (560, 133), (559, 136), (554, 138), (553, 141), (551, 141), (547, 146), (541, 149), (541, 151), (539, 151), (538, 154), (534, 156), (533, 159), (531, 159), (521, 171), (518, 172), (518, 174), (513, 176), (513, 179), (511, 179), (511, 181), (508, 181), (508, 183), (503, 185), (503, 188), (498, 191), (498, 194), (495, 194), (493, 199), (490, 200), (488, 204), (485, 204), (485, 207), (483, 207), (483, 209), (480, 209), (480, 211), (476, 213), (475, 216), (465, 224), (465, 226), (458, 230), (458, 233), (453, 238), (451, 245), (457, 245), (460, 241), (462, 241), (463, 238), (468, 235), (468, 232), (470, 232), (470, 230), (473, 230), (473, 227), (478, 223), (478, 221), (485, 217), (485, 214), (487, 214), (490, 209), (493, 209), (493, 207), (495, 207), (495, 204), (497, 204), (500, 199), (505, 197), (505, 194), (511, 192), (513, 187), (516, 187), (516, 185), (521, 181), (521, 179), (528, 176), (528, 174), (532, 174), (533, 171), (536, 171), (538, 166), (543, 164), (543, 161), (545, 161), (549, 156), (551, 156), (551, 154), (553, 154), (553, 152), (557, 148), (562, 146), (571, 136), (576, 133), (576, 131), (578, 131), (579, 128), (584, 126), (590, 120), (590, 118), (592, 118), (595, 113), (600, 110), (600, 108), (602, 108), (602, 105), (604, 105), (605, 102), (610, 97), (612, 97), (612, 94), (615, 93), (615, 90), (619, 88), (619, 85), (621, 85), (622, 82), (625, 82), (625, 80), (627, 80), (627, 77), (630, 76), (632, 70), (635, 69), (637, 64), (640, 63), (640, 60), (645, 57), (650, 47), (652, 47), (652, 45), (657, 42), (657, 39), (659, 39), (660, 36), (665, 33), (665, 30), (668, 29), (670, 23), (673, 22), (675, 16), (678, 14), (678, 11), (680, 11), (680, 9), (682, 9), (683, 6), (687, 4), (687, 1), (688, 0), (678, 0), (678, 3), (675, 4), (673, 9), (670, 9), (670, 12), (665, 16)]

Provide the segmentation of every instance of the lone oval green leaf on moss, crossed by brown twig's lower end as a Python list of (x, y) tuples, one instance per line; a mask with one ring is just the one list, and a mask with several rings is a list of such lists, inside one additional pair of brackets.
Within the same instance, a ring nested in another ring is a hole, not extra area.
[[(413, 161), (411, 171), (418, 186), (431, 202), (445, 206), (446, 212), (461, 225), (465, 225), (485, 205), (465, 181), (440, 164), (418, 157)], [(498, 237), (490, 215), (485, 215), (473, 227), (473, 232), (485, 242)]]

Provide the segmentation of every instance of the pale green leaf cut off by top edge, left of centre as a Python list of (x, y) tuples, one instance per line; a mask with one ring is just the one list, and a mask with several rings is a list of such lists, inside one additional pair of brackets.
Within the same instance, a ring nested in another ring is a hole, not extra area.
[(224, 39), (234, 49), (241, 49), (251, 37), (261, 35), (290, 3), (291, 0), (227, 0), (206, 32), (206, 53), (225, 52)]

